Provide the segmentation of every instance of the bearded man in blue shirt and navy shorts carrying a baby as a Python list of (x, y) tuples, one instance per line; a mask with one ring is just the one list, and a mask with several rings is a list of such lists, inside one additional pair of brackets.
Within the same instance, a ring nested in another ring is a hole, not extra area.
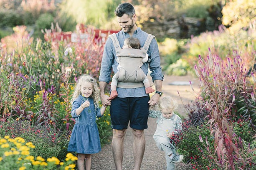
[[(120, 47), (124, 45), (124, 39), (128, 37), (137, 37), (143, 47), (148, 34), (137, 27), (134, 7), (130, 3), (122, 3), (116, 8), (115, 14), (117, 22), (122, 28), (117, 33)], [(129, 122), (134, 137), (134, 170), (140, 169), (145, 150), (144, 129), (147, 128), (148, 106), (155, 106), (160, 96), (162, 96), (163, 75), (162, 68), (160, 67), (159, 50), (155, 39), (152, 40), (147, 54), (149, 54), (151, 59), (150, 63), (144, 63), (141, 68), (147, 74), (148, 67), (150, 67), (150, 76), (155, 84), (156, 93), (150, 99), (149, 95), (145, 93), (144, 86), (136, 88), (120, 88), (117, 86), (118, 97), (110, 101), (109, 96), (105, 94), (105, 87), (111, 79), (112, 69), (114, 73), (117, 72), (118, 63), (112, 39), (108, 38), (104, 47), (99, 76), (100, 97), (103, 105), (111, 105), (112, 151), (117, 170), (122, 170), (124, 136)]]

